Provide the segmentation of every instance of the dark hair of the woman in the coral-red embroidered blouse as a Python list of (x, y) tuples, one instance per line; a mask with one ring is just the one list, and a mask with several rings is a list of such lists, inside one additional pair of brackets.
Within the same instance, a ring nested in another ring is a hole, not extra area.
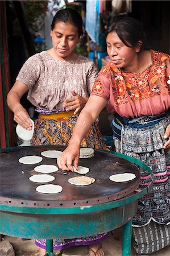
[(147, 48), (144, 42), (146, 38), (144, 26), (139, 20), (128, 16), (117, 17), (113, 24), (108, 28), (106, 35), (114, 31), (126, 46), (136, 47), (140, 40), (143, 42), (140, 49)]

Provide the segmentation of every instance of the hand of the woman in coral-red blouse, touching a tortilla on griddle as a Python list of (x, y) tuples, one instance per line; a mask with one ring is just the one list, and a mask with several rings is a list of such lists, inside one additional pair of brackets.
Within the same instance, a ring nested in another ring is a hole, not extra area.
[(63, 171), (73, 171), (73, 166), (78, 169), (78, 159), (80, 155), (80, 148), (78, 146), (69, 146), (57, 158), (57, 164)]

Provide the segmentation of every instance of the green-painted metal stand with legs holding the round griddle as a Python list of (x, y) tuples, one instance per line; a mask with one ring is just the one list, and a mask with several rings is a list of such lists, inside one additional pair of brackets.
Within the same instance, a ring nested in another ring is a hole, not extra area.
[[(146, 164), (117, 152), (111, 152), (143, 167), (152, 176)], [(137, 200), (146, 195), (152, 186), (132, 191), (122, 199), (84, 207), (21, 207), (9, 204), (0, 205), (0, 233), (7, 236), (23, 238), (46, 238), (47, 253), (55, 256), (52, 243), (54, 238), (75, 238), (93, 236), (109, 232), (123, 226), (122, 256), (129, 256), (131, 249), (132, 218), (138, 206)]]

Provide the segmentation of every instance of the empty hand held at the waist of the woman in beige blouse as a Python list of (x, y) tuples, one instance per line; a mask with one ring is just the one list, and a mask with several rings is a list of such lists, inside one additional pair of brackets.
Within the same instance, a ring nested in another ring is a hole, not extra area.
[(84, 108), (86, 102), (88, 101), (88, 97), (82, 97), (79, 94), (75, 93), (73, 90), (71, 93), (73, 97), (67, 98), (64, 101), (65, 104), (63, 105), (63, 107), (66, 111), (75, 110), (74, 115), (76, 115), (80, 113), (81, 109)]

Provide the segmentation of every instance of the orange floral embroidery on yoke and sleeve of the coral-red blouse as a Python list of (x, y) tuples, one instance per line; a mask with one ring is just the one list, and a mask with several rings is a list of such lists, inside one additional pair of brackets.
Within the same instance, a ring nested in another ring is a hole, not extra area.
[[(115, 104), (122, 105), (127, 103), (127, 94), (129, 100), (140, 101), (144, 98), (154, 97), (159, 94), (168, 94), (167, 79), (165, 77), (165, 63), (163, 61), (168, 59), (168, 55), (164, 53), (154, 52), (152, 55), (153, 63), (157, 63), (157, 56), (159, 56), (160, 65), (151, 65), (146, 71), (140, 75), (130, 72), (122, 72), (121, 69), (115, 67), (110, 62), (99, 72), (101, 75), (106, 74), (108, 71), (114, 80), (112, 91), (115, 96)], [(97, 78), (94, 83), (92, 93), (102, 94), (105, 88), (101, 79)]]

